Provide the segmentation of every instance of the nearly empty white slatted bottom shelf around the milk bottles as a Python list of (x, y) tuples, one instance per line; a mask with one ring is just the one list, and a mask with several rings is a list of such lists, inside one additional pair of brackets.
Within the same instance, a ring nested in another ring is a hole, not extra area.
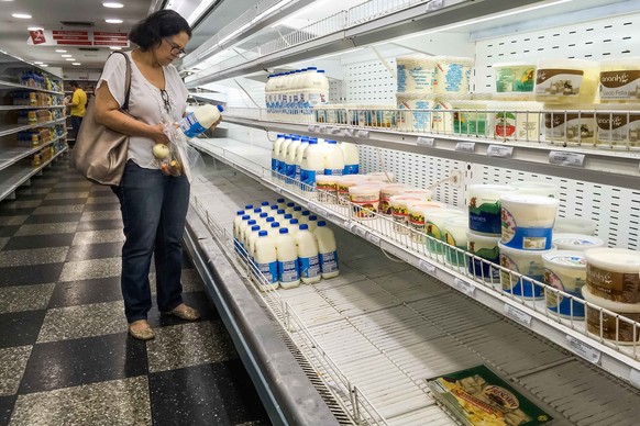
[[(239, 205), (277, 197), (257, 180), (218, 166), (207, 168), (192, 183), (191, 206), (230, 259), (234, 254), (229, 229)], [(385, 258), (355, 235), (335, 232), (341, 274), (334, 279), (258, 293), (242, 259), (234, 265), (245, 285), (264, 300), (312, 361), (313, 375), (322, 378), (335, 396), (342, 395), (347, 406), (353, 394), (343, 386), (342, 374), (363, 396), (367, 410), (361, 413), (362, 424), (455, 424), (435, 404), (424, 379), (479, 363), (533, 396), (555, 418), (554, 425), (636, 423), (640, 394), (633, 388), (528, 327), (503, 321), (477, 299)], [(216, 268), (216, 262), (210, 265)]]

